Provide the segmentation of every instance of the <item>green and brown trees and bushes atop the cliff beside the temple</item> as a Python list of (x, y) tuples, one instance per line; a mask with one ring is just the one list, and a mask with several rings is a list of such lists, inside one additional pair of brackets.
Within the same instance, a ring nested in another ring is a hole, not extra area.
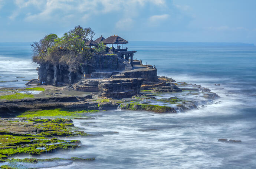
[(76, 26), (60, 38), (56, 34), (49, 34), (32, 44), (33, 61), (39, 64), (68, 65), (70, 71), (76, 72), (93, 53), (105, 51), (104, 44), (99, 44), (95, 49), (86, 47), (85, 42), (91, 40), (94, 35), (90, 27), (81, 26)]

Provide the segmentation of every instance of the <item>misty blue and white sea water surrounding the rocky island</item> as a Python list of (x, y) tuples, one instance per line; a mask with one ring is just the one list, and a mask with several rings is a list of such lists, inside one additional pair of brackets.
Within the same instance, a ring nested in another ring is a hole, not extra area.
[[(178, 114), (123, 110), (89, 114), (95, 119), (73, 121), (95, 136), (74, 138), (81, 140), (81, 148), (40, 158), (96, 158), (63, 166), (56, 163), (55, 169), (255, 168), (255, 46), (137, 42), (128, 47), (137, 51), (134, 59), (155, 65), (158, 75), (210, 88), (220, 96), (219, 104)], [(37, 66), (29, 46), (0, 47), (0, 81), (37, 78)], [(0, 86), (22, 87), (24, 81)], [(219, 138), (242, 143), (218, 142)]]

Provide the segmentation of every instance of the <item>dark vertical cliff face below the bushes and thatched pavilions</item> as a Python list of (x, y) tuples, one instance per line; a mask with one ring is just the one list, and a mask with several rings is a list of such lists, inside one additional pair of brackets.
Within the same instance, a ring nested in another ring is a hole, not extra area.
[(55, 86), (78, 82), (83, 78), (83, 72), (90, 77), (93, 71), (115, 71), (125, 67), (116, 55), (93, 55), (91, 60), (81, 63), (76, 72), (69, 71), (68, 65), (49, 63), (39, 63), (39, 65), (37, 70), (40, 84), (45, 81), (48, 85)]

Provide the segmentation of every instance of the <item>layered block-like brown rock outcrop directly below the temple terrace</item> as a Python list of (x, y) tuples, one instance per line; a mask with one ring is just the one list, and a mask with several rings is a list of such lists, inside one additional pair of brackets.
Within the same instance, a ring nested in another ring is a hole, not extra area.
[(128, 98), (139, 94), (143, 81), (138, 78), (82, 79), (73, 88), (78, 91), (99, 92), (99, 97)]

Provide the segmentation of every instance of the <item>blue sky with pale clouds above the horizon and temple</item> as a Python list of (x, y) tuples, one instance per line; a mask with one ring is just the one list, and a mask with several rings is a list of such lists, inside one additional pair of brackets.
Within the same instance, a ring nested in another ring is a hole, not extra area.
[(95, 39), (256, 44), (256, 0), (0, 0), (0, 42), (59, 37), (75, 26)]

